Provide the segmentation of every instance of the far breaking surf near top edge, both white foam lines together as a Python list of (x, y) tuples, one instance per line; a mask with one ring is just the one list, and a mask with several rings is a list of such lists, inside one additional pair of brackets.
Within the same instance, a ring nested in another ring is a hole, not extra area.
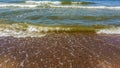
[[(65, 5), (64, 5), (65, 4)], [(70, 5), (72, 4), (72, 5)], [(25, 3), (0, 3), (1, 8), (19, 7), (19, 8), (83, 8), (83, 9), (120, 9), (120, 6), (87, 6), (86, 4), (95, 4), (94, 2), (60, 2), (60, 1), (26, 1)]]

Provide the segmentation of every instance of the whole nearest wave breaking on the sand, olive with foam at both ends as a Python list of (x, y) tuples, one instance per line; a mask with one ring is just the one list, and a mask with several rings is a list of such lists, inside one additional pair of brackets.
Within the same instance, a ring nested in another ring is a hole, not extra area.
[(38, 25), (28, 23), (0, 24), (0, 37), (44, 37), (49, 33), (93, 33), (93, 34), (120, 34), (120, 27), (103, 25)]

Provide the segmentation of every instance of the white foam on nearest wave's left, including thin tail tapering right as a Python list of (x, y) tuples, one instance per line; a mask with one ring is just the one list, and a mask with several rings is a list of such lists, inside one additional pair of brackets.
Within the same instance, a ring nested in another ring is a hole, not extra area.
[(30, 24), (0, 24), (0, 37), (44, 37), (48, 32), (70, 31), (66, 27), (36, 26)]

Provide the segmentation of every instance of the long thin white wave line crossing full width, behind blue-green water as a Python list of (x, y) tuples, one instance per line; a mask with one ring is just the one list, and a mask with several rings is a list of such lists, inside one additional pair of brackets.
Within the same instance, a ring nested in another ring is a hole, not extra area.
[(76, 5), (36, 5), (36, 4), (0, 4), (0, 8), (80, 8), (80, 9), (113, 9), (120, 10), (120, 6), (76, 6)]

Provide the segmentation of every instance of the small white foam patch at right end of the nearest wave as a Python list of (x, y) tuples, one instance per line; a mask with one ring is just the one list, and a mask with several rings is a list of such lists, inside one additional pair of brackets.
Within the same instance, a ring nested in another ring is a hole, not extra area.
[(120, 34), (120, 27), (101, 29), (97, 31), (97, 34)]

